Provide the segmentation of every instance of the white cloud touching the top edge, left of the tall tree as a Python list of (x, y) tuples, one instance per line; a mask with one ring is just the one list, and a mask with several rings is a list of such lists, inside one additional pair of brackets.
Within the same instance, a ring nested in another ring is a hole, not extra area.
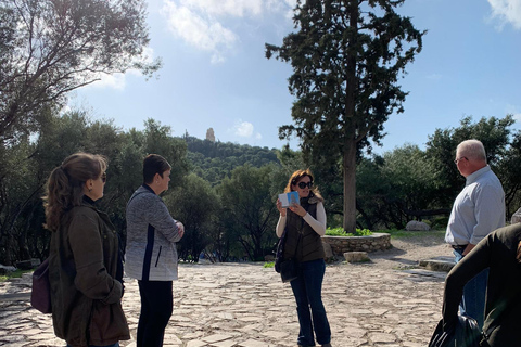
[(211, 52), (212, 63), (221, 63), (241, 41), (232, 18), (259, 18), (265, 12), (287, 13), (296, 0), (164, 0), (162, 9), (170, 33), (188, 44)]

